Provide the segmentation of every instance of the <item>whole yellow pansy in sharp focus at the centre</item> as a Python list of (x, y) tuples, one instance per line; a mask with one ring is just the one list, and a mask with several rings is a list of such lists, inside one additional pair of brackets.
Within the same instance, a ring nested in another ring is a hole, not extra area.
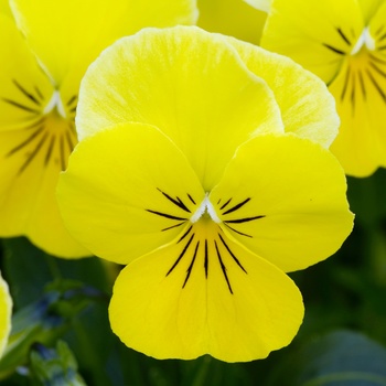
[(248, 43), (147, 29), (89, 67), (77, 125), (60, 207), (83, 245), (128, 265), (115, 333), (158, 358), (289, 344), (303, 304), (286, 272), (333, 254), (353, 222), (324, 84)]

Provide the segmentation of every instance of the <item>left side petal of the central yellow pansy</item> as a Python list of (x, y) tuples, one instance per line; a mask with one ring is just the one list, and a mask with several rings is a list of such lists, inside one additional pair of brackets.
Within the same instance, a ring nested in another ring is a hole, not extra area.
[(73, 236), (95, 255), (119, 264), (185, 232), (205, 195), (174, 143), (142, 124), (81, 141), (57, 191)]

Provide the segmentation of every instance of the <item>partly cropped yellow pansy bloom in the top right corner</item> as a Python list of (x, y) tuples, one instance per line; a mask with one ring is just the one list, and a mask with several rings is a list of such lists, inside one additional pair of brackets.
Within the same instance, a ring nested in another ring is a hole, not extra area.
[(274, 0), (261, 45), (328, 84), (342, 121), (331, 150), (347, 174), (386, 167), (386, 1)]

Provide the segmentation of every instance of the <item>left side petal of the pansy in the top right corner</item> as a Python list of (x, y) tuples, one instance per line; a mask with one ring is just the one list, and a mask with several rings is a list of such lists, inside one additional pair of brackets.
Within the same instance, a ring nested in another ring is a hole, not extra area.
[(355, 0), (276, 0), (261, 46), (291, 57), (330, 83), (363, 28), (362, 11)]

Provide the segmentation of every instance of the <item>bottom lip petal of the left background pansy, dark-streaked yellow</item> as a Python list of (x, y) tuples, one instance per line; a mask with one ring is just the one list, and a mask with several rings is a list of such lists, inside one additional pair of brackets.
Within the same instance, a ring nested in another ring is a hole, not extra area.
[(64, 228), (54, 195), (76, 142), (74, 126), (51, 116), (37, 124), (0, 133), (0, 235), (26, 235), (61, 257), (87, 256)]

